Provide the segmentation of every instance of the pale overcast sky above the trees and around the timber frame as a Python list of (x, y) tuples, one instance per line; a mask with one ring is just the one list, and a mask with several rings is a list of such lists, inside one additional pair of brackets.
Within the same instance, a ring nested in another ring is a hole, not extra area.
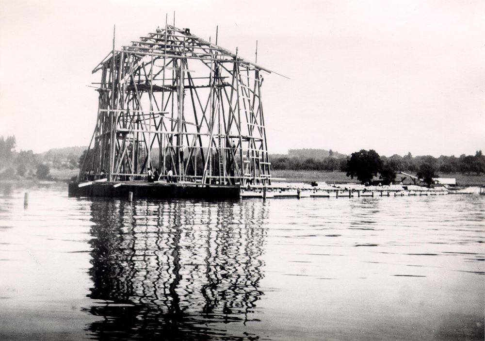
[(268, 148), (485, 151), (485, 1), (0, 0), (0, 135), (85, 146), (116, 48), (169, 22), (281, 73), (262, 87)]

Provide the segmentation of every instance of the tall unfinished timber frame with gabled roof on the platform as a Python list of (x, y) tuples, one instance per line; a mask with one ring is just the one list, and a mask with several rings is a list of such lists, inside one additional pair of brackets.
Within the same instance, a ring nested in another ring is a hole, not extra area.
[(261, 98), (270, 70), (166, 25), (121, 50), (113, 40), (97, 71), (99, 109), (81, 173), (104, 169), (109, 181), (126, 181), (151, 168), (179, 182), (270, 184)]

